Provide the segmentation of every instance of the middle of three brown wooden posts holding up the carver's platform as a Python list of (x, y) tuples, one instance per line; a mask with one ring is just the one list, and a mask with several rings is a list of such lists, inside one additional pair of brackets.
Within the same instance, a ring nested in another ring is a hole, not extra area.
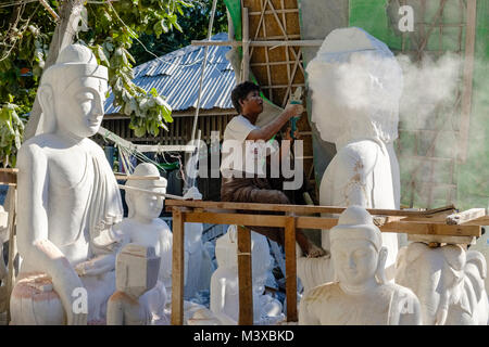
[(239, 325), (253, 324), (251, 231), (238, 226)]

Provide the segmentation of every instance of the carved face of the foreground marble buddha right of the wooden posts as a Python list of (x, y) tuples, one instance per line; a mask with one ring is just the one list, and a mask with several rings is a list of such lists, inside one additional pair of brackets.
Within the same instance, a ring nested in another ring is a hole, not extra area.
[(338, 280), (346, 285), (361, 285), (375, 277), (378, 253), (366, 240), (335, 240), (331, 257)]

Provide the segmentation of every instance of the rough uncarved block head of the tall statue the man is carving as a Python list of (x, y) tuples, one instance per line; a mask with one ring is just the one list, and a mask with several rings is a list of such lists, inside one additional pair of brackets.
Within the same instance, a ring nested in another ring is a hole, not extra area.
[(331, 31), (308, 64), (312, 121), (324, 141), (343, 145), (398, 137), (402, 70), (389, 48), (356, 27)]

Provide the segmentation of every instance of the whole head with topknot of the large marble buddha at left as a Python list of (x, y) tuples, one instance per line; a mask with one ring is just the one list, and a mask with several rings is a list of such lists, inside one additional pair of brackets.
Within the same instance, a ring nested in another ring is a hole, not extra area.
[(38, 91), (42, 108), (38, 132), (75, 138), (96, 134), (102, 123), (106, 91), (106, 67), (98, 65), (89, 48), (67, 46), (42, 75)]

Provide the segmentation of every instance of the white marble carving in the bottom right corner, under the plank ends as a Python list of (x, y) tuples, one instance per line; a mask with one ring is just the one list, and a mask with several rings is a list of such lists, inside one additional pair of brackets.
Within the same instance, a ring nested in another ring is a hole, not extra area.
[(486, 275), (484, 256), (460, 245), (415, 242), (399, 250), (396, 282), (417, 295), (427, 325), (487, 325)]

